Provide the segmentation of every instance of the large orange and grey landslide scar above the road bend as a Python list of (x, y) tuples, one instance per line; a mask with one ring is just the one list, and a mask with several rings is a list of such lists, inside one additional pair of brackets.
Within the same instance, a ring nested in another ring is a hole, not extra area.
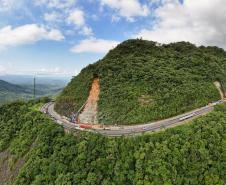
[(79, 115), (80, 123), (97, 124), (97, 102), (99, 100), (99, 78), (93, 80), (87, 103)]

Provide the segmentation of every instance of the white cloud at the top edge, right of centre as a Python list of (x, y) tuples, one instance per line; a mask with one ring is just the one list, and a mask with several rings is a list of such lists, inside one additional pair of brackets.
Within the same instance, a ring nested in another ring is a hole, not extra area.
[(147, 5), (142, 5), (139, 0), (100, 0), (102, 6), (108, 6), (116, 11), (118, 16), (134, 21), (135, 17), (148, 16)]

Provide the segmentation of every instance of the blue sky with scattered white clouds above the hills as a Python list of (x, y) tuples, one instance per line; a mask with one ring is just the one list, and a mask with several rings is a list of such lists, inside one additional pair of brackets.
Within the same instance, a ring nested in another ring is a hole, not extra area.
[(74, 76), (134, 38), (226, 49), (225, 0), (0, 0), (0, 75)]

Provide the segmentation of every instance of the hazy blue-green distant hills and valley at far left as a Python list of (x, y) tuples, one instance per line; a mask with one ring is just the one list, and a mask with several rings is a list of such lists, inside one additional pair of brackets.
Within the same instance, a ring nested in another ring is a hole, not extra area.
[[(68, 81), (68, 78), (63, 77), (36, 77), (36, 97), (53, 97), (65, 87)], [(31, 99), (33, 93), (33, 76), (0, 76), (0, 105), (15, 100)]]

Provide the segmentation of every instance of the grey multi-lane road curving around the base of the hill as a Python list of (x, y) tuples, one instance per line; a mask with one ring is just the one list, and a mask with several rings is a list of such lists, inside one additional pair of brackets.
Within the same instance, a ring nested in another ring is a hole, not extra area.
[[(143, 132), (157, 131), (162, 128), (169, 128), (172, 126), (176, 126), (188, 120), (205, 115), (206, 113), (209, 113), (210, 111), (212, 111), (215, 105), (221, 104), (221, 103), (223, 103), (223, 101), (220, 100), (212, 103), (211, 105), (207, 105), (205, 107), (195, 109), (185, 114), (181, 114), (179, 116), (175, 116), (175, 117), (161, 120), (161, 121), (150, 122), (150, 123), (141, 124), (141, 125), (133, 125), (133, 126), (106, 126), (105, 128), (89, 129), (89, 131), (94, 133), (100, 133), (106, 136), (134, 135), (134, 134), (139, 134)], [(41, 112), (49, 114), (55, 120), (56, 123), (63, 125), (63, 127), (67, 130), (73, 130), (73, 129), (84, 130), (80, 128), (78, 124), (69, 122), (65, 117), (62, 117), (57, 112), (55, 112), (53, 102), (45, 104), (41, 108)]]

